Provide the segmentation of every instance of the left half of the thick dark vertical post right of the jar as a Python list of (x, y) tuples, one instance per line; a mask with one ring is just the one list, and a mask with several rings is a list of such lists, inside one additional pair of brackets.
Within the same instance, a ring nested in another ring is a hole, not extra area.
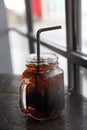
[[(72, 0), (65, 1), (66, 9), (66, 32), (67, 32), (67, 50), (73, 50), (73, 17), (72, 17)], [(68, 89), (71, 91), (75, 86), (73, 63), (68, 60)]]

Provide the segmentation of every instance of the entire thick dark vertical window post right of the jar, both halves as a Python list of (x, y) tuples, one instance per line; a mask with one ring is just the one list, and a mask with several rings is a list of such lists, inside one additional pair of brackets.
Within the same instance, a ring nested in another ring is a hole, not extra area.
[[(79, 0), (77, 0), (79, 2)], [(79, 15), (79, 4), (75, 0), (66, 0), (66, 32), (67, 32), (67, 50), (77, 51), (79, 46), (80, 23), (78, 21)], [(79, 19), (80, 20), (80, 19)], [(79, 33), (78, 33), (79, 32)], [(78, 46), (77, 46), (78, 45)], [(79, 90), (79, 67), (68, 60), (68, 84), (69, 91), (72, 89)]]

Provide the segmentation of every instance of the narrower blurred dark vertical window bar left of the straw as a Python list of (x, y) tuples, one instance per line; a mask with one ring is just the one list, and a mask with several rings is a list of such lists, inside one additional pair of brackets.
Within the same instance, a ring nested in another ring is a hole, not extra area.
[[(27, 19), (27, 28), (28, 34), (33, 32), (33, 20), (32, 20), (32, 3), (31, 0), (25, 0), (26, 7), (26, 19)], [(31, 37), (28, 38), (29, 41), (29, 50), (30, 53), (34, 53), (34, 41)]]

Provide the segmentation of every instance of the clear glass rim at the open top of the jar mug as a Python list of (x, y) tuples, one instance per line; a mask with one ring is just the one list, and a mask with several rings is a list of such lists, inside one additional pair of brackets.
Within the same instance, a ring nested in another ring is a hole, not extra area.
[[(40, 53), (40, 63), (39, 64), (51, 64), (58, 63), (58, 56), (55, 53)], [(26, 57), (26, 64), (37, 64), (37, 54), (28, 54)]]

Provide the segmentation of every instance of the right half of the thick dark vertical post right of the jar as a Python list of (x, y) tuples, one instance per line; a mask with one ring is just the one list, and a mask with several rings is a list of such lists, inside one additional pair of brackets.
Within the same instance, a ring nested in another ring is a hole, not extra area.
[[(74, 50), (81, 50), (81, 0), (74, 0), (73, 5), (73, 13), (74, 13), (74, 41), (75, 44)], [(75, 90), (80, 92), (81, 84), (80, 84), (80, 66), (75, 65)]]

